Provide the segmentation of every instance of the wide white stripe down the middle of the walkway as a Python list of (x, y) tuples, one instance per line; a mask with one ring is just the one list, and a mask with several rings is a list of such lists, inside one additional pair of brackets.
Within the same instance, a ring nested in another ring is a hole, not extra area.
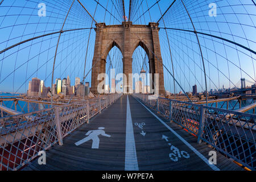
[(128, 96), (126, 109), (125, 171), (139, 171)]

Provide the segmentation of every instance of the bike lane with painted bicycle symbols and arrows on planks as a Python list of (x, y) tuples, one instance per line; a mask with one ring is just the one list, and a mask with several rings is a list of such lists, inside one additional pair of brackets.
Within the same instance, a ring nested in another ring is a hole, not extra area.
[(165, 126), (132, 96), (129, 96), (129, 102), (140, 171), (218, 170), (189, 146), (188, 137), (182, 138), (181, 133), (170, 131), (166, 123)]

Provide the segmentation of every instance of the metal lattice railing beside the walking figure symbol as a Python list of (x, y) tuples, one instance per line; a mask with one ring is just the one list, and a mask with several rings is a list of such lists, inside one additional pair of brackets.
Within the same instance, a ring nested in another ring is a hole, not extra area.
[(62, 145), (64, 137), (121, 96), (112, 94), (0, 118), (0, 171), (17, 170), (36, 158), (39, 151), (56, 143)]

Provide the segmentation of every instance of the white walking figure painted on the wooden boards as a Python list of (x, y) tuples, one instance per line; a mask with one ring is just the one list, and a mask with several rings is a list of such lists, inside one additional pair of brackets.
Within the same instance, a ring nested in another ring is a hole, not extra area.
[(91, 130), (88, 131), (85, 135), (88, 137), (85, 137), (84, 139), (81, 139), (80, 141), (76, 142), (76, 146), (80, 146), (80, 144), (88, 142), (89, 140), (92, 140), (92, 148), (98, 148), (100, 145), (100, 138), (98, 138), (99, 135), (102, 135), (104, 137), (111, 137), (110, 135), (106, 134), (104, 131), (105, 127), (99, 127), (98, 130)]

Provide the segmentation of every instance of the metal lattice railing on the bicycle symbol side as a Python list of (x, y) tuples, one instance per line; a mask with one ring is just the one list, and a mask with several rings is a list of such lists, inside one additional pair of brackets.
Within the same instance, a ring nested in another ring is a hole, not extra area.
[(256, 169), (255, 114), (146, 94), (133, 94), (133, 96), (195, 135), (197, 142), (208, 143), (243, 166)]

